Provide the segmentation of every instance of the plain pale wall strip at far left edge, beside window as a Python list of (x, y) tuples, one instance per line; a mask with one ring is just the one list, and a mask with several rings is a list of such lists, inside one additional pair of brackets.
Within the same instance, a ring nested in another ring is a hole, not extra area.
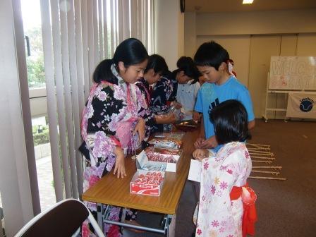
[(0, 190), (7, 236), (33, 216), (11, 0), (0, 1)]

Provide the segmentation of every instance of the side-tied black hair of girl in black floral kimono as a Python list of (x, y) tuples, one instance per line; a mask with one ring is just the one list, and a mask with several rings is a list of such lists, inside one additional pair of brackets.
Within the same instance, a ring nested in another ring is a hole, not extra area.
[(95, 83), (107, 81), (117, 85), (117, 78), (111, 72), (111, 65), (116, 65), (118, 70), (119, 62), (123, 62), (124, 66), (135, 65), (142, 63), (148, 58), (147, 50), (140, 40), (135, 38), (125, 39), (118, 47), (116, 47), (113, 59), (104, 59), (95, 68), (93, 80)]

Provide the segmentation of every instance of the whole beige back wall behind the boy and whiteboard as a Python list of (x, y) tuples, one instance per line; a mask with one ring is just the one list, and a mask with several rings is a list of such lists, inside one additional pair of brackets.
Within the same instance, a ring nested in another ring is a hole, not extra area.
[[(272, 56), (316, 56), (316, 9), (243, 13), (186, 13), (186, 55), (215, 40), (229, 51), (235, 71), (253, 98), (255, 116), (265, 111), (267, 72)], [(192, 23), (195, 19), (195, 25)], [(270, 38), (274, 38), (273, 40)], [(188, 45), (188, 46), (187, 46)], [(192, 53), (194, 51), (194, 53)], [(284, 95), (271, 95), (269, 107), (286, 107)], [(269, 118), (284, 119), (284, 112)]]

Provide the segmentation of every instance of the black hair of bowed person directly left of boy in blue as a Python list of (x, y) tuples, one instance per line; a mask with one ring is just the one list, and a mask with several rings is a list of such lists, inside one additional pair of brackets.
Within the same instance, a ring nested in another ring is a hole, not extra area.
[(184, 75), (194, 79), (191, 84), (194, 84), (199, 80), (200, 72), (197, 70), (192, 58), (188, 56), (181, 56), (181, 58), (176, 62), (176, 66), (178, 69), (172, 72), (174, 78), (176, 78), (176, 73), (183, 71)]

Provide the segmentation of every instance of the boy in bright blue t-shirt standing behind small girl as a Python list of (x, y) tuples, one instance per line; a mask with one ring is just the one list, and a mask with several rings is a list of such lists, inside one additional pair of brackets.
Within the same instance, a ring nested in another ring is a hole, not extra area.
[(194, 61), (205, 79), (205, 83), (197, 92), (194, 109), (203, 114), (200, 136), (194, 143), (197, 149), (194, 156), (204, 158), (199, 149), (212, 149), (217, 152), (221, 147), (217, 144), (214, 126), (209, 120), (209, 114), (214, 107), (228, 99), (237, 99), (248, 113), (248, 129), (255, 126), (255, 116), (248, 89), (229, 74), (229, 53), (226, 49), (214, 41), (205, 42), (197, 49)]

